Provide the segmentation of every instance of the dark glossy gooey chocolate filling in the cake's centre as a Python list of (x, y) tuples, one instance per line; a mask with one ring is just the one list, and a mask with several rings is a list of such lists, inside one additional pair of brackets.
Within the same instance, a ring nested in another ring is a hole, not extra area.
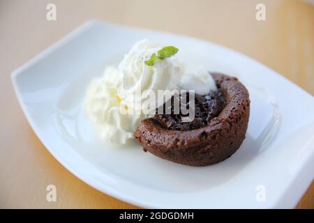
[[(179, 97), (172, 96), (169, 109), (169, 111), (171, 111), (170, 114), (165, 114), (166, 104), (163, 105), (163, 114), (158, 114), (158, 111), (156, 110), (154, 120), (163, 126), (163, 128), (181, 131), (203, 128), (211, 121), (211, 119), (220, 114), (226, 104), (225, 99), (223, 98), (223, 93), (220, 89), (210, 91), (207, 95), (195, 94), (195, 118), (193, 121), (184, 122), (183, 117), (188, 116), (188, 113), (184, 114), (181, 107), (179, 109), (179, 114), (174, 114), (174, 100), (179, 100), (179, 102), (181, 102), (182, 97), (183, 96), (181, 95), (179, 95)], [(186, 102), (186, 109), (189, 109), (190, 100), (188, 95)]]

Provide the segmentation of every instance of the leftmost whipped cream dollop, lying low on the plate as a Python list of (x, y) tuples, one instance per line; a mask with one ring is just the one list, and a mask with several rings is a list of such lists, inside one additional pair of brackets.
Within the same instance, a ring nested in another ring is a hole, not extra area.
[(84, 100), (85, 112), (100, 135), (115, 144), (126, 144), (132, 139), (137, 123), (144, 118), (142, 114), (128, 114), (128, 107), (121, 103), (121, 78), (119, 69), (105, 68), (103, 77), (89, 84)]

